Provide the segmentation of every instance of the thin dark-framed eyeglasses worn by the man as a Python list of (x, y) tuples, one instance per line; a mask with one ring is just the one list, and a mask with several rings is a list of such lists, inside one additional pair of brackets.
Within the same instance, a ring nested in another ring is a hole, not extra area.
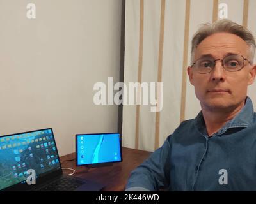
[(226, 71), (240, 71), (244, 67), (244, 61), (250, 61), (244, 58), (242, 55), (227, 55), (223, 59), (213, 59), (212, 57), (202, 57), (191, 67), (200, 74), (210, 73), (216, 65), (216, 61), (221, 61), (223, 68)]

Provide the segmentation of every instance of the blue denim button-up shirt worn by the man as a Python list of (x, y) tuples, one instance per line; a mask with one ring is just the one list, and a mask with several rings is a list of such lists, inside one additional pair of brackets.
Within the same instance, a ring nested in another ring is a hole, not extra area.
[(249, 97), (211, 137), (202, 112), (132, 171), (126, 191), (256, 191), (256, 113)]

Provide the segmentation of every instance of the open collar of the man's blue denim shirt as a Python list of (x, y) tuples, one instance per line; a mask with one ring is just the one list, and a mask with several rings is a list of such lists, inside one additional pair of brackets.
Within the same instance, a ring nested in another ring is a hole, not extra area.
[[(220, 136), (223, 135), (229, 128), (247, 128), (251, 124), (253, 124), (254, 118), (254, 110), (252, 100), (247, 96), (245, 105), (243, 106), (242, 110), (234, 117), (232, 120), (228, 121), (218, 132), (214, 133), (212, 136)], [(207, 131), (205, 128), (204, 117), (202, 111), (198, 113), (195, 118), (195, 126), (198, 131), (207, 136)]]

